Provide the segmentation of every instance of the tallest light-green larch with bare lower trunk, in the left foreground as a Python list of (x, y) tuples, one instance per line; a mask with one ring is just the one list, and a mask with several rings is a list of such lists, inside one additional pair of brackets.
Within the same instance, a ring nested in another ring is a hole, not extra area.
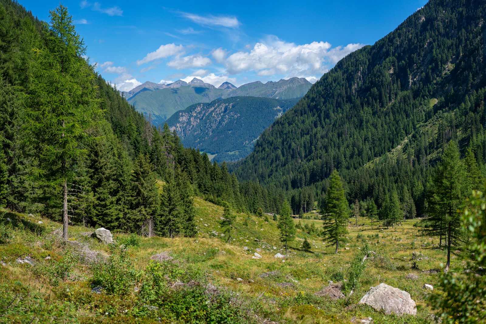
[[(42, 184), (60, 189), (63, 239), (68, 239), (68, 186), (101, 122), (94, 68), (83, 56), (86, 47), (63, 5), (50, 12), (44, 28), (46, 47), (34, 49), (27, 97), (28, 130), (33, 133), (39, 166), (33, 174)], [(73, 190), (75, 190), (73, 188)]]

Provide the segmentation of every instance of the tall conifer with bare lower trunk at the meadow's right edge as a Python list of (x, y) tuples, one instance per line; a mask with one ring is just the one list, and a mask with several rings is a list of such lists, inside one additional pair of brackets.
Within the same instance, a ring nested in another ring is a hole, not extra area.
[(468, 196), (469, 184), (464, 163), (460, 160), (457, 143), (448, 143), (434, 172), (429, 194), (429, 215), (432, 226), (426, 231), (430, 235), (446, 235), (447, 263), (444, 272), (451, 265), (451, 247), (461, 241), (460, 209)]

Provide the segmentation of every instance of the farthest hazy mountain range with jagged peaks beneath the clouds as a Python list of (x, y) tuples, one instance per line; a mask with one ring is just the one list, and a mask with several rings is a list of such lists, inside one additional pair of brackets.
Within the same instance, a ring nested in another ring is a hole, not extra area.
[(130, 91), (123, 92), (123, 96), (135, 106), (137, 111), (146, 116), (150, 115), (152, 122), (160, 125), (176, 111), (186, 109), (191, 104), (236, 96), (273, 99), (301, 98), (311, 85), (306, 79), (295, 77), (277, 82), (261, 83), (257, 81), (239, 87), (225, 82), (219, 87), (215, 87), (194, 78), (189, 83), (177, 80), (167, 85), (145, 82)]

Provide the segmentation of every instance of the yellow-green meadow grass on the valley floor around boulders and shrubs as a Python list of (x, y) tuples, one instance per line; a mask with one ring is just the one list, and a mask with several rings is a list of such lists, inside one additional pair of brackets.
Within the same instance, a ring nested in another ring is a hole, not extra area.
[[(256, 303), (260, 322), (267, 318), (278, 323), (349, 323), (354, 316), (372, 317), (374, 323), (431, 321), (430, 314), (433, 310), (427, 305), (426, 291), (421, 287), (426, 283), (434, 285), (436, 275), (422, 274), (421, 271), (439, 268), (441, 262), (445, 261), (446, 254), (445, 251), (435, 248), (437, 239), (419, 235), (417, 227), (414, 226), (417, 220), (407, 220), (388, 229), (377, 228), (375, 223), (372, 230), (369, 220), (359, 218), (360, 226), (356, 227), (353, 226), (355, 220), (350, 219), (348, 242), (340, 247), (338, 255), (333, 253), (334, 247), (324, 244), (316, 234), (299, 229), (295, 240), (289, 244), (289, 256), (280, 259), (274, 255), (277, 252), (284, 254), (283, 243), (279, 240), (277, 224), (273, 220), (264, 222), (263, 219), (252, 215), (237, 214), (234, 240), (228, 243), (226, 237), (221, 236), (219, 227), (223, 208), (200, 198), (195, 198), (194, 203), (198, 229), (196, 237), (135, 240), (132, 238), (135, 246), (128, 249), (128, 257), (134, 269), (139, 272), (145, 271), (144, 269), (151, 264), (150, 256), (168, 251), (180, 265), (183, 273), (192, 273), (192, 280), (211, 283), (224, 288), (225, 291), (237, 293), (242, 300)], [(13, 222), (7, 222), (6, 217)], [(58, 276), (56, 271), (62, 273), (61, 265), (63, 260), (66, 260), (67, 251), (77, 256), (77, 250), (80, 250), (82, 244), (90, 250), (100, 252), (100, 257), (106, 258), (113, 253), (108, 246), (86, 236), (86, 233), (94, 231), (93, 228), (70, 226), (71, 243), (66, 243), (59, 238), (60, 223), (11, 212), (4, 218), (1, 223), (4, 227), (10, 228), (11, 237), (7, 244), (0, 245), (0, 258), (6, 264), (1, 266), (0, 287), (9, 293), (0, 296), (0, 323), (21, 323), (12, 320), (15, 318), (13, 315), (7, 317), (10, 322), (2, 322), (5, 317), (1, 317), (2, 305), (6, 312), (10, 309), (10, 300), (18, 295), (24, 296), (24, 300), (21, 303), (18, 300), (13, 301), (11, 307), (31, 307), (33, 312), (29, 313), (29, 316), (40, 316), (39, 323), (42, 323), (42, 316), (45, 316), (46, 321), (52, 316), (55, 318), (55, 311), (59, 313), (59, 319), (72, 317), (80, 323), (158, 323), (158, 320), (141, 320), (130, 316), (130, 312), (123, 313), (126, 307), (134, 307), (133, 296), (128, 299), (113, 298), (104, 293), (91, 292), (89, 278), (93, 275), (92, 269), (79, 258), (74, 258), (69, 273), (64, 280), (58, 280), (56, 284), (53, 278)], [(298, 223), (299, 220), (295, 222)], [(322, 221), (300, 220), (300, 223), (313, 223), (319, 228)], [(117, 241), (127, 241), (129, 238), (127, 234), (114, 235)], [(311, 253), (300, 249), (304, 239), (311, 243)], [(328, 280), (335, 281), (336, 277), (346, 276), (353, 257), (360, 252), (359, 248), (365, 243), (371, 250), (388, 257), (396, 270), (369, 262), (360, 285), (349, 297), (334, 301), (314, 296), (315, 292), (327, 286)], [(243, 247), (248, 249), (245, 250)], [(346, 250), (346, 247), (349, 250)], [(257, 248), (260, 249), (258, 253), (262, 257), (253, 259), (252, 255)], [(417, 261), (419, 270), (415, 271), (411, 269), (413, 251), (427, 257)], [(16, 262), (17, 258), (24, 256), (31, 256), (35, 260), (35, 265)], [(46, 256), (51, 256), (51, 259), (45, 260)], [(465, 266), (466, 261), (460, 256), (452, 257), (452, 271), (462, 272)], [(262, 273), (273, 271), (278, 273), (260, 277)], [(405, 279), (409, 273), (417, 274), (418, 280)], [(237, 278), (243, 280), (236, 280)], [(371, 307), (358, 305), (370, 287), (381, 282), (409, 292), (417, 303), (417, 316), (385, 315)], [(291, 285), (281, 287), (281, 283)], [(35, 312), (35, 309), (40, 307), (35, 305), (44, 305), (43, 313)], [(44, 315), (38, 315), (41, 313)]]

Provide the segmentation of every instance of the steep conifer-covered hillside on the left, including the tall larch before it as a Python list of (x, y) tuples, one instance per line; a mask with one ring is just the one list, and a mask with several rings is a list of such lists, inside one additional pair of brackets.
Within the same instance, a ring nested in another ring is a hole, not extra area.
[(260, 186), (150, 125), (83, 58), (67, 9), (51, 19), (0, 2), (0, 206), (161, 236), (195, 234), (196, 194), (256, 211)]

